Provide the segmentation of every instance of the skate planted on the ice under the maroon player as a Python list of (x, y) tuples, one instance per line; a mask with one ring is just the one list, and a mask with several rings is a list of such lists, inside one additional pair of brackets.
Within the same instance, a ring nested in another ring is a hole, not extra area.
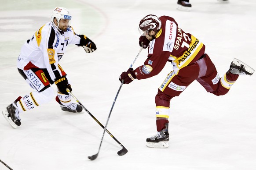
[(169, 147), (168, 141), (168, 131), (162, 130), (160, 132), (157, 132), (157, 135), (146, 138), (146, 146), (150, 148), (167, 148)]

